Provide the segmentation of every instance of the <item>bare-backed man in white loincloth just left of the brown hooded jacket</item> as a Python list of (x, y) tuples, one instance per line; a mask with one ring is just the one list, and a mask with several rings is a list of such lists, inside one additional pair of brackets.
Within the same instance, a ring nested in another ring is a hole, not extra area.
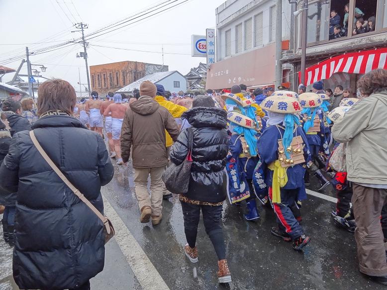
[(103, 113), (103, 116), (111, 116), (111, 131), (113, 135), (113, 142), (114, 142), (114, 148), (115, 153), (117, 155), (117, 165), (122, 165), (123, 161), (121, 158), (121, 142), (120, 142), (120, 136), (121, 136), (121, 127), (122, 127), (122, 121), (125, 116), (125, 112), (127, 110), (126, 106), (122, 104), (122, 96), (120, 94), (114, 94), (113, 96), (114, 104), (110, 104), (105, 112)]

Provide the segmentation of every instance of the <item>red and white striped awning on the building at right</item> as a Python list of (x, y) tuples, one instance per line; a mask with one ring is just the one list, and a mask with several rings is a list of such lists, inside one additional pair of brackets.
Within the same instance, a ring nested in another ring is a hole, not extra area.
[(300, 83), (312, 84), (321, 79), (328, 79), (336, 72), (367, 73), (376, 69), (387, 69), (387, 48), (347, 53), (332, 57), (305, 70), (305, 79)]

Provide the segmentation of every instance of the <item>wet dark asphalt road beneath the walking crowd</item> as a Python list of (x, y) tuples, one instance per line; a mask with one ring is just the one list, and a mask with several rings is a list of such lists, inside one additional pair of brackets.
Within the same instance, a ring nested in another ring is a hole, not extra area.
[[(128, 162), (127, 167), (115, 166), (115, 169), (112, 182), (102, 189), (102, 194), (171, 290), (384, 289), (360, 275), (353, 233), (338, 228), (331, 220), (334, 203), (314, 196), (308, 196), (302, 203), (302, 226), (312, 238), (302, 252), (295, 252), (290, 243), (270, 234), (271, 227), (276, 225), (271, 209), (259, 206), (261, 218), (248, 222), (243, 218), (244, 204), (235, 207), (225, 202), (223, 226), (233, 282), (218, 285), (217, 258), (202, 221), (197, 237), (199, 262), (191, 264), (183, 251), (186, 240), (178, 197), (163, 202), (163, 220), (158, 226), (141, 224), (133, 168)], [(315, 190), (313, 184), (309, 189)], [(324, 194), (334, 197), (330, 187)], [(130, 245), (128, 248), (130, 251)], [(91, 280), (92, 290), (142, 289), (115, 240), (106, 245), (105, 261), (104, 271)], [(18, 289), (11, 278), (11, 249), (3, 241), (0, 263), (0, 290)], [(152, 279), (152, 273), (147, 275)]]

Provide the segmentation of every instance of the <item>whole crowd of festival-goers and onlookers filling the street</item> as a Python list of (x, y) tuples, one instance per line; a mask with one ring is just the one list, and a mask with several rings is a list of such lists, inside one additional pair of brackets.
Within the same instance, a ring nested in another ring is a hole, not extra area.
[(240, 84), (191, 95), (144, 81), (128, 97), (109, 92), (102, 99), (93, 91), (77, 102), (67, 81), (53, 79), (39, 87), (37, 104), (3, 101), (1, 223), (5, 242), (14, 246), (16, 284), (87, 290), (103, 269), (104, 225), (43, 150), (101, 213), (100, 187), (113, 177), (111, 160), (123, 166), (131, 159), (139, 219), (153, 226), (163, 218), (163, 199), (172, 197), (163, 182), (166, 168), (192, 162), (188, 190), (179, 194), (184, 252), (198, 261), (201, 212), (218, 257), (219, 283), (231, 282), (224, 201), (245, 207), (249, 222), (262, 210), (274, 211), (271, 233), (300, 251), (311, 241), (300, 222), (314, 176), (318, 190), (332, 184), (337, 192), (331, 215), (355, 232), (360, 272), (387, 286), (387, 71), (365, 74), (357, 87), (357, 98), (341, 85), (324, 89), (322, 81), (308, 92), (303, 84), (297, 92), (283, 86), (249, 91)]

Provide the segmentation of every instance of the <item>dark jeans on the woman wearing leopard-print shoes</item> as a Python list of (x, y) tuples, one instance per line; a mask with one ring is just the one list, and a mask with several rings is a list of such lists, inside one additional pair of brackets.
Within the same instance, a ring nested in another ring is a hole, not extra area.
[(222, 217), (222, 206), (199, 206), (181, 202), (184, 217), (184, 232), (189, 246), (195, 247), (197, 226), (200, 219), (200, 210), (203, 214), (205, 232), (209, 236), (215, 248), (218, 260), (226, 258), (226, 246), (224, 244), (223, 230), (220, 224)]

